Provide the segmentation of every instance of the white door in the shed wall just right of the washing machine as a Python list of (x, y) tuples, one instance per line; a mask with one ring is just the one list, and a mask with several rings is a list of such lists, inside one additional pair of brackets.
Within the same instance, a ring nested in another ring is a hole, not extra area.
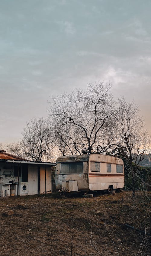
[(28, 165), (28, 195), (38, 193), (38, 171), (37, 166)]

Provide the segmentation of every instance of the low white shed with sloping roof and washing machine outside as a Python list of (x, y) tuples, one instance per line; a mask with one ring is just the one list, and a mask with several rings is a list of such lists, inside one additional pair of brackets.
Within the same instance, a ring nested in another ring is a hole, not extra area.
[(0, 196), (51, 193), (55, 163), (35, 162), (0, 151)]

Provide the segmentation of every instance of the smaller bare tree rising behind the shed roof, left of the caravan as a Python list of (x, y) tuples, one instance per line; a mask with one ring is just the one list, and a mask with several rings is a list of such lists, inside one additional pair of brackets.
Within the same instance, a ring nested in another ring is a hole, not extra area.
[(53, 136), (47, 119), (32, 119), (24, 127), (23, 138), (18, 143), (6, 145), (8, 152), (34, 161), (52, 159)]

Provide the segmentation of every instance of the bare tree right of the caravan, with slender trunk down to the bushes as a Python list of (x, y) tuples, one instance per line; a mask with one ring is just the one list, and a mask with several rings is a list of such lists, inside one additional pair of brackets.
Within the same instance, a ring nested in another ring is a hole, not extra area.
[(150, 147), (150, 134), (144, 129), (144, 121), (139, 115), (139, 108), (133, 102), (118, 99), (117, 141), (127, 151), (127, 167), (132, 174), (133, 191), (136, 189), (135, 178), (143, 155)]

